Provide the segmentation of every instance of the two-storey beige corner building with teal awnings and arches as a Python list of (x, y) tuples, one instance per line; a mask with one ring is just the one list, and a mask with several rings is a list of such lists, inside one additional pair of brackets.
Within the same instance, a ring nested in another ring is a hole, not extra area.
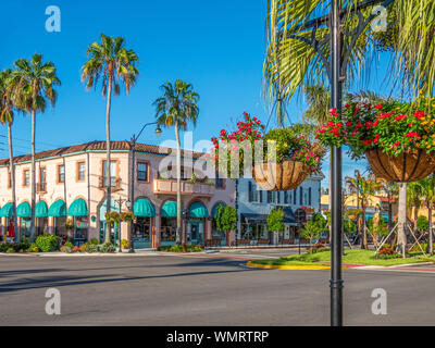
[[(132, 159), (128, 141), (111, 142), (111, 210), (135, 213), (132, 240), (136, 248), (175, 243), (176, 227), (176, 150), (136, 144), (134, 198), (132, 198)], [(0, 160), (1, 233), (28, 235), (30, 227), (30, 156), (16, 157), (15, 191), (18, 227), (12, 227), (12, 189), (9, 160)], [(192, 176), (192, 167), (197, 175)], [(204, 169), (202, 171), (202, 169)], [(105, 141), (75, 145), (36, 154), (37, 233), (69, 236), (79, 245), (103, 240), (107, 212)], [(198, 174), (199, 173), (199, 174)], [(216, 231), (214, 216), (220, 204), (235, 206), (235, 183), (214, 178), (207, 170), (203, 153), (182, 152), (182, 238), (185, 243), (226, 244)], [(121, 203), (121, 206), (120, 206)], [(130, 203), (130, 204), (128, 204)], [(130, 208), (128, 208), (128, 206)], [(65, 222), (74, 224), (65, 229)], [(121, 224), (121, 238), (129, 239), (129, 226)], [(13, 232), (12, 232), (13, 231)], [(112, 238), (120, 240), (119, 229)]]

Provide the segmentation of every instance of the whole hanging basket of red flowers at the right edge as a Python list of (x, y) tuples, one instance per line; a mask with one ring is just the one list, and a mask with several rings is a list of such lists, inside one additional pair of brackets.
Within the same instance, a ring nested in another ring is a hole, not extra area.
[(348, 99), (341, 120), (331, 109), (331, 119), (318, 129), (324, 145), (347, 145), (357, 159), (365, 154), (376, 176), (390, 182), (415, 182), (435, 171), (435, 116), (423, 111), (433, 110), (435, 100), (373, 105)]

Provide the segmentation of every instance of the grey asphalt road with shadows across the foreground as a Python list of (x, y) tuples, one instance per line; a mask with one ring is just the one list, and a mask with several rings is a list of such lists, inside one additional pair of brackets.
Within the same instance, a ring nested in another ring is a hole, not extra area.
[[(0, 256), (0, 325), (328, 325), (328, 270), (244, 265), (285, 253)], [(352, 269), (344, 277), (346, 325), (435, 324), (435, 273)], [(61, 315), (45, 311), (52, 287)], [(371, 312), (374, 288), (387, 291), (386, 315)]]

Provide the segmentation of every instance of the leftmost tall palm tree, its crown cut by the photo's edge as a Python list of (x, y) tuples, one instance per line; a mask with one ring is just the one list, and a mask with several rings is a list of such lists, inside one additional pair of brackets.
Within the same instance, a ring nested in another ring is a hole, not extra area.
[[(12, 71), (7, 69), (0, 72), (0, 122), (8, 124), (8, 141), (9, 141), (9, 172), (12, 189), (12, 209), (14, 231), (17, 231), (18, 222), (16, 216), (16, 195), (15, 195), (15, 165), (13, 161), (12, 150), (12, 123), (14, 119), (14, 84)], [(15, 240), (20, 241), (20, 234), (15, 234)]]

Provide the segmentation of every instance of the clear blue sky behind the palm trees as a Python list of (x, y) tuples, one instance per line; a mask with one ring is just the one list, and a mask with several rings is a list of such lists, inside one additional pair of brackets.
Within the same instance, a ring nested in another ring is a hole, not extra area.
[[(48, 5), (61, 10), (60, 33), (45, 28)], [(0, 69), (40, 52), (45, 60), (54, 62), (62, 80), (55, 108), (37, 115), (38, 151), (105, 138), (105, 99), (100, 89), (86, 91), (80, 82), (86, 48), (99, 40), (101, 33), (123, 36), (126, 47), (140, 59), (137, 85), (129, 96), (122, 92), (113, 100), (113, 140), (129, 139), (144, 123), (154, 121), (152, 101), (160, 95), (159, 86), (176, 78), (191, 83), (201, 96), (194, 142), (210, 139), (244, 111), (268, 121), (261, 79), (265, 0), (16, 0), (4, 3), (2, 12)], [(374, 84), (380, 86), (378, 80)], [(293, 121), (303, 109), (301, 98), (290, 102)], [(152, 130), (144, 133), (140, 140), (159, 144), (174, 139), (173, 129), (164, 129), (161, 139)], [(29, 117), (18, 115), (13, 132), (15, 154), (28, 153)], [(0, 135), (7, 135), (5, 127), (0, 127)], [(7, 138), (0, 141), (4, 142), (0, 158), (8, 157)], [(326, 179), (327, 165), (328, 159)], [(344, 174), (357, 167), (363, 170), (364, 163), (346, 160)]]

